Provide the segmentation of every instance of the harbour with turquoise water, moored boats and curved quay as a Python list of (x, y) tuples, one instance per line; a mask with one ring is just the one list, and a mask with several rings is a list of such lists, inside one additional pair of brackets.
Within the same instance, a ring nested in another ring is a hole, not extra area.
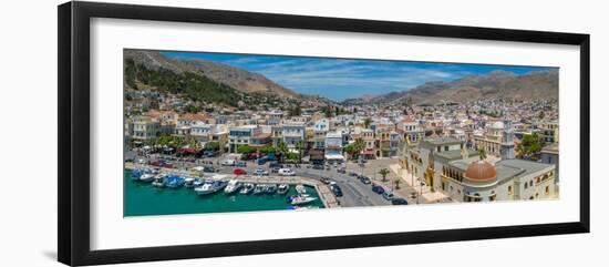
[(326, 184), (301, 176), (203, 173), (126, 163), (124, 188), (125, 217), (340, 207)]

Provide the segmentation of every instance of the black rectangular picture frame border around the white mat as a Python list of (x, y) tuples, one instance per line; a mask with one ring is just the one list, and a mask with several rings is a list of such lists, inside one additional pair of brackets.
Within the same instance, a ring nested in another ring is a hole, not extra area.
[[(580, 49), (580, 214), (577, 222), (466, 229), (154, 246), (90, 248), (90, 19), (114, 18), (285, 29), (386, 33), (471, 40), (571, 44)], [(491, 29), (359, 19), (218, 11), (189, 8), (66, 2), (58, 7), (58, 258), (66, 265), (187, 259), (342, 249), (421, 243), (589, 233), (590, 230), (590, 37), (578, 33)]]

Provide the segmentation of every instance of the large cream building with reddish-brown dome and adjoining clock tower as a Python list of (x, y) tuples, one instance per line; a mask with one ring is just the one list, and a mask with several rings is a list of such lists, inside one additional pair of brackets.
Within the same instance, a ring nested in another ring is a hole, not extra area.
[(499, 157), (487, 160), (455, 137), (433, 137), (405, 145), (401, 165), (454, 202), (555, 198), (556, 166), (515, 158), (510, 123), (496, 126), (503, 127)]

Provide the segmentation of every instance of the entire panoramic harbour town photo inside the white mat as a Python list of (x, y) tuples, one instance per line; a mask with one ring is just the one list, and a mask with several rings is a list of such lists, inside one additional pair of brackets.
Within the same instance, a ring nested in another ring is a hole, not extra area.
[(553, 68), (124, 60), (125, 216), (559, 197)]

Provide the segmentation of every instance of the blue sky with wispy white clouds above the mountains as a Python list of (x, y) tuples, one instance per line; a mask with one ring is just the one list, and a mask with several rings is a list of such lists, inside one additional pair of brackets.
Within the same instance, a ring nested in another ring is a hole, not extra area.
[(537, 66), (351, 60), (204, 52), (162, 52), (169, 58), (204, 59), (260, 73), (285, 88), (334, 101), (367, 94), (405, 91), (433, 81), (503, 70), (516, 74), (548, 70)]

